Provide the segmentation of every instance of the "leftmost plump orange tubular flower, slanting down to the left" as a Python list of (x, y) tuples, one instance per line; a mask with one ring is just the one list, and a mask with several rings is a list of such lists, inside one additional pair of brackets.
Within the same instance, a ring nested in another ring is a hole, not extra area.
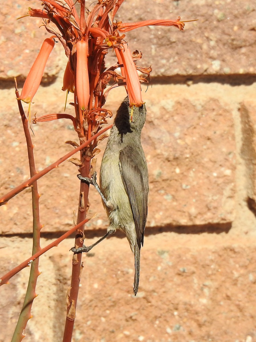
[(39, 88), (46, 62), (53, 50), (54, 44), (55, 41), (53, 38), (46, 38), (44, 40), (41, 50), (28, 73), (22, 93), (17, 100), (22, 100), (26, 103), (32, 102), (32, 99)]

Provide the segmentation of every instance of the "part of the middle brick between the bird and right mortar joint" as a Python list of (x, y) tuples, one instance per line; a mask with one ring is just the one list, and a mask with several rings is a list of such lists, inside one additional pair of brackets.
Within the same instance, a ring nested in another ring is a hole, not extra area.
[(171, 106), (169, 98), (148, 112), (143, 140), (151, 181), (148, 224), (231, 222), (236, 170), (232, 113), (213, 99), (197, 107), (189, 100)]

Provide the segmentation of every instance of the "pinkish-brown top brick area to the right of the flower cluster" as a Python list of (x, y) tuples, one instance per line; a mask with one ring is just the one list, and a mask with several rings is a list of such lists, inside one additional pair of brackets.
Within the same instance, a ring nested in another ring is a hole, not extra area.
[(143, 53), (138, 64), (151, 64), (152, 77), (174, 76), (175, 80), (193, 75), (255, 75), (255, 10), (254, 0), (128, 0), (120, 7), (117, 19), (198, 19), (185, 23), (184, 32), (160, 26), (127, 32), (130, 48)]

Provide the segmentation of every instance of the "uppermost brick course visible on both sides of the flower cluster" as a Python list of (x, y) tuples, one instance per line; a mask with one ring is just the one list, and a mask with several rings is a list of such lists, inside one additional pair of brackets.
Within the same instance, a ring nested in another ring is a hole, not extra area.
[[(39, 1), (29, 5), (39, 8)], [(1, 79), (24, 79), (37, 56), (43, 39), (49, 37), (44, 27), (39, 29), (39, 18), (17, 17), (26, 14), (28, 4), (18, 0), (15, 6), (6, 2), (0, 19), (5, 25), (1, 30), (1, 53), (10, 58), (3, 59)], [(199, 19), (186, 23), (185, 31), (174, 27), (142, 27), (126, 33), (131, 50), (139, 50), (143, 58), (138, 65), (153, 67), (152, 77), (179, 77), (203, 75), (255, 75), (252, 56), (256, 53), (254, 0), (241, 3), (239, 0), (223, 1), (151, 1), (126, 0), (120, 7), (116, 19), (137, 22), (147, 19)], [(246, 25), (245, 25), (246, 23)], [(59, 72), (59, 64), (66, 61), (61, 43), (46, 65), (43, 81), (53, 81)], [(237, 62), (239, 60), (239, 63)], [(116, 62), (109, 53), (106, 65)]]

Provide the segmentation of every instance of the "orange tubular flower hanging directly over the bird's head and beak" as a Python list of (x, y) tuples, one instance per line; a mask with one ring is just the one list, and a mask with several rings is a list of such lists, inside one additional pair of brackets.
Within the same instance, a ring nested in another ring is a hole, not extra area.
[(128, 45), (124, 44), (119, 53), (124, 65), (124, 74), (126, 79), (129, 103), (131, 106), (135, 105), (136, 107), (140, 107), (145, 102), (142, 100), (141, 97), (140, 80)]

